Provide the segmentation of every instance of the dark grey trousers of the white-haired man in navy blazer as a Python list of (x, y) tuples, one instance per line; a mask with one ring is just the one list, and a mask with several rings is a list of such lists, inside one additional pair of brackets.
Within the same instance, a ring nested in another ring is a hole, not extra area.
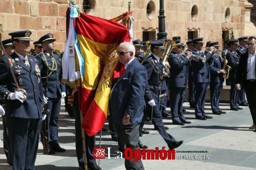
[[(132, 150), (140, 149), (138, 145), (139, 126), (140, 123), (134, 125), (116, 126), (118, 145), (123, 153), (126, 148), (132, 148)], [(130, 154), (128, 154), (128, 156), (130, 156)], [(124, 166), (126, 169), (144, 169), (141, 160), (134, 162), (134, 156), (130, 160), (125, 159)]]

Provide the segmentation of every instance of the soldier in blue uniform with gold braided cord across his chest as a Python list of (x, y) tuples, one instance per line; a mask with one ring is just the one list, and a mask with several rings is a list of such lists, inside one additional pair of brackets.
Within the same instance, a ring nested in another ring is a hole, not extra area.
[[(49, 110), (48, 116), (48, 140), (50, 154), (57, 152), (65, 152), (66, 150), (61, 148), (58, 143), (58, 120), (61, 106), (61, 98), (65, 98), (66, 89), (65, 84), (60, 83), (62, 78), (62, 67), (60, 65), (59, 56), (56, 53), (52, 53), (54, 50), (54, 41), (51, 33), (42, 36), (38, 41), (42, 44), (43, 52), (36, 56), (39, 62), (39, 68), (42, 76), (42, 85), (45, 90), (45, 82), (48, 77), (48, 91), (47, 91), (47, 108)], [(47, 75), (48, 69), (48, 75)], [(41, 140), (42, 134), (41, 134)]]

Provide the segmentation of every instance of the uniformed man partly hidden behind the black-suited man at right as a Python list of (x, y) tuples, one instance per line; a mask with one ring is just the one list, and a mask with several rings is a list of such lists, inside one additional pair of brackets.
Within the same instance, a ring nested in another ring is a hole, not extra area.
[[(246, 53), (247, 50), (248, 50), (248, 48), (246, 47), (247, 39), (248, 39), (248, 37), (238, 38), (239, 45), (237, 47), (236, 52), (239, 55), (239, 60), (241, 59), (241, 55), (243, 53)], [(237, 103), (239, 104), (239, 106), (249, 106), (246, 99), (245, 99), (245, 91), (244, 91), (243, 84), (241, 84), (241, 90), (238, 91)]]

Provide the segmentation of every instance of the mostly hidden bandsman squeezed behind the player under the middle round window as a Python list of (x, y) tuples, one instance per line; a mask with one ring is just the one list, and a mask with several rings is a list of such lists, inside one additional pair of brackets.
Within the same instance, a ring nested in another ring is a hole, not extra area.
[[(193, 41), (186, 42), (188, 49), (186, 51), (192, 52), (194, 49)], [(195, 85), (193, 82), (193, 69), (188, 68), (188, 102), (191, 108), (195, 108)]]

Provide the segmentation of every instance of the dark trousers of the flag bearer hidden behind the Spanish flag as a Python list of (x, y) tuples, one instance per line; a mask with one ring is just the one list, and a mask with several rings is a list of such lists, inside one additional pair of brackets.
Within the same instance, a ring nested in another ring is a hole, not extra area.
[[(78, 160), (79, 166), (84, 167), (81, 118), (80, 118), (77, 92), (74, 94), (74, 104), (72, 107), (75, 114), (75, 129), (76, 129), (75, 138), (76, 138), (77, 160)], [(87, 164), (96, 163), (96, 160), (93, 158), (93, 155), (94, 155), (93, 148), (95, 147), (95, 135), (88, 136), (86, 133), (84, 133), (84, 137), (85, 137)]]

